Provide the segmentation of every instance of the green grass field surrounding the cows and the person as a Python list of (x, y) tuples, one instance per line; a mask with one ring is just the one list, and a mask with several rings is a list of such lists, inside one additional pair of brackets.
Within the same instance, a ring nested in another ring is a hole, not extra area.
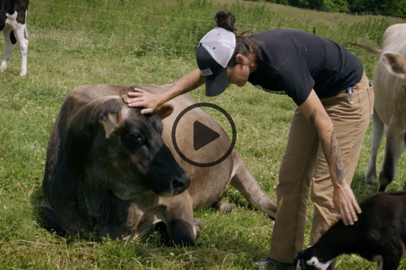
[[(234, 213), (196, 212), (205, 227), (196, 246), (187, 248), (167, 247), (157, 232), (126, 245), (110, 239), (100, 243), (75, 236), (61, 238), (41, 227), (39, 211), (46, 146), (66, 94), (84, 84), (174, 82), (195, 68), (194, 46), (214, 27), (212, 18), (218, 9), (229, 7), (236, 14), (237, 26), (251, 32), (276, 27), (313, 31), (314, 27), (316, 34), (358, 55), (371, 80), (378, 56), (350, 43), (379, 46), (385, 28), (400, 22), (271, 4), (224, 3), (31, 1), (28, 75), (19, 77), (17, 48), (9, 68), (0, 74), (0, 269), (256, 269), (254, 261), (268, 252), (273, 222), (249, 207), (233, 188), (227, 190), (224, 200), (236, 206)], [(2, 39), (0, 48), (3, 53)], [(192, 96), (197, 102), (212, 102), (229, 112), (238, 133), (236, 148), (264, 192), (276, 201), (274, 187), (295, 104), (288, 97), (270, 95), (250, 85), (230, 87), (213, 98), (205, 97), (200, 87)], [(352, 184), (358, 200), (376, 190), (363, 183), (370, 133), (368, 129)], [(382, 149), (378, 166), (381, 162)], [(401, 189), (405, 166), (403, 157), (390, 189)], [(305, 245), (311, 217), (309, 203)], [(340, 257), (337, 264), (337, 269), (348, 270), (375, 267), (357, 256)], [(400, 269), (406, 269), (404, 261)]]

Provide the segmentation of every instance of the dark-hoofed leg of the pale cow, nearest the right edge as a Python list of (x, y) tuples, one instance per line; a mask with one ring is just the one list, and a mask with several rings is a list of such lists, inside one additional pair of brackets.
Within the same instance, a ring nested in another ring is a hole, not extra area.
[(389, 184), (395, 178), (397, 161), (405, 150), (405, 126), (402, 125), (402, 117), (400, 112), (395, 111), (387, 129), (385, 157), (379, 173), (378, 191), (380, 192), (386, 192)]

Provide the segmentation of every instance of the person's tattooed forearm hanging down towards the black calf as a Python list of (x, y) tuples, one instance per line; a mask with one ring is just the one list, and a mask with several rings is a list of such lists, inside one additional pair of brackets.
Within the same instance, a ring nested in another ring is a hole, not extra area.
[(334, 126), (331, 121), (329, 122), (326, 126), (319, 127), (318, 138), (326, 157), (333, 185), (338, 187), (345, 180), (344, 168), (340, 157), (340, 147), (338, 146), (337, 138), (335, 138)]

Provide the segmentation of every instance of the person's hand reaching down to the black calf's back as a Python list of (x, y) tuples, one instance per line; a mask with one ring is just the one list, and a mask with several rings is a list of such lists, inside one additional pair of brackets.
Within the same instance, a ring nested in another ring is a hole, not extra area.
[(343, 180), (343, 185), (334, 188), (333, 202), (334, 209), (341, 216), (344, 225), (354, 225), (354, 222), (358, 220), (357, 213), (361, 213), (361, 208), (355, 199), (353, 190), (345, 180)]

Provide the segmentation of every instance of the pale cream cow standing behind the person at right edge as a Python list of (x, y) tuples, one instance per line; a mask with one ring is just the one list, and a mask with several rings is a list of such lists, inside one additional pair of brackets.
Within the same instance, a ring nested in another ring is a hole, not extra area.
[(386, 29), (381, 50), (360, 46), (373, 53), (380, 53), (373, 80), (375, 104), (372, 151), (365, 172), (365, 183), (375, 184), (376, 158), (385, 132), (385, 157), (379, 173), (378, 190), (387, 191), (388, 185), (395, 178), (397, 161), (406, 146), (406, 23), (398, 23)]

